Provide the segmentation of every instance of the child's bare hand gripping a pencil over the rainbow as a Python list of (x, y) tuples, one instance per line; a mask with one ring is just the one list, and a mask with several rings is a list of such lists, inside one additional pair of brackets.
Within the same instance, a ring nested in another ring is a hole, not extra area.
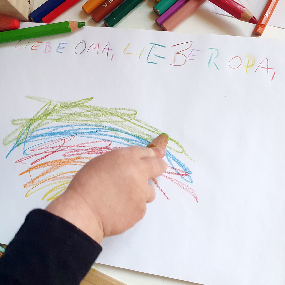
[(98, 243), (134, 226), (155, 198), (148, 183), (166, 171), (161, 148), (127, 147), (90, 160), (46, 208)]

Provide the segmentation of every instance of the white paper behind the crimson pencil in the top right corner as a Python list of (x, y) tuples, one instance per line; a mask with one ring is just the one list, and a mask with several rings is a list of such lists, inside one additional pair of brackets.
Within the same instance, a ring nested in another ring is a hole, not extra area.
[[(253, 16), (255, 16), (256, 19), (258, 20), (260, 16), (262, 16), (261, 14), (264, 7), (266, 6), (267, 1), (268, 0), (241, 0), (241, 1), (237, 0), (236, 2), (240, 3), (248, 10), (250, 10)], [(222, 10), (220, 7), (217, 7), (215, 4), (211, 3), (208, 0), (205, 3), (203, 3), (199, 9), (221, 15), (231, 16), (230, 14)], [(283, 12), (284, 10), (285, 10), (285, 2), (279, 1), (268, 22), (268, 25), (285, 29), (285, 19)]]

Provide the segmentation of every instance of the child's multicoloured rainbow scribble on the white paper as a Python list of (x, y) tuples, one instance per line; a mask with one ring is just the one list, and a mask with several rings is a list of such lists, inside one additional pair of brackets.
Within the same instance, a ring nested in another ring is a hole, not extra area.
[[(78, 170), (91, 158), (115, 149), (138, 145), (145, 147), (162, 131), (136, 118), (136, 110), (104, 108), (89, 105), (93, 99), (59, 102), (27, 96), (44, 106), (31, 118), (12, 120), (16, 129), (3, 140), (13, 144), (6, 158), (18, 147), (23, 148), (22, 158), (15, 161), (28, 168), (19, 175), (27, 175), (24, 184), (26, 197), (42, 190), (42, 200), (57, 198), (68, 186)], [(84, 141), (84, 142), (82, 142)], [(162, 177), (175, 183), (197, 202), (190, 169), (173, 153), (182, 153), (192, 160), (183, 146), (170, 138), (166, 149), (167, 171)], [(156, 187), (169, 200), (158, 181)]]

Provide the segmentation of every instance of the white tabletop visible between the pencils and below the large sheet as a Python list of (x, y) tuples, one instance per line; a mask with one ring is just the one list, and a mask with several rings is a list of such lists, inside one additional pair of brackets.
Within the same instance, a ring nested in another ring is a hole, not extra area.
[[(61, 14), (52, 22), (61, 22), (66, 20), (82, 21), (87, 26), (105, 27), (103, 21), (98, 24), (93, 21), (90, 15), (83, 12), (81, 6), (87, 0), (81, 0), (68, 11)], [(44, 0), (34, 0), (34, 9), (42, 5)], [(161, 30), (155, 20), (158, 17), (153, 12), (153, 0), (144, 0), (125, 18), (123, 18), (114, 28), (135, 28), (148, 30)], [(173, 31), (195, 34), (220, 34), (234, 35), (242, 37), (251, 37), (254, 29), (253, 24), (242, 22), (236, 18), (213, 14), (202, 10), (197, 10), (187, 20), (182, 22)], [(106, 29), (110, 29), (107, 28)], [(167, 33), (167, 32), (166, 32)], [(263, 38), (285, 38), (285, 29), (267, 26)], [(103, 249), (104, 250), (104, 249)], [(175, 265), (173, 265), (175, 266)], [(94, 264), (93, 267), (127, 285), (186, 285), (196, 284), (174, 280), (166, 277), (150, 275), (131, 271), (127, 269), (115, 268), (107, 265)]]

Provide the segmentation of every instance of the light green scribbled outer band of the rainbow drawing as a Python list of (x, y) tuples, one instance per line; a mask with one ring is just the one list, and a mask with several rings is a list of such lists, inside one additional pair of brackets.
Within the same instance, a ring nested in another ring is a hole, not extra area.
[[(136, 110), (129, 108), (106, 108), (87, 104), (93, 97), (77, 101), (56, 101), (34, 96), (26, 97), (42, 102), (45, 105), (31, 118), (12, 120), (11, 123), (17, 128), (4, 138), (4, 146), (10, 143), (19, 146), (25, 141), (28, 132), (32, 133), (54, 122), (115, 125), (147, 141), (152, 141), (162, 133), (161, 130), (151, 124), (137, 119)], [(23, 134), (26, 134), (26, 136)], [(120, 134), (120, 136), (122, 135)], [(173, 146), (168, 145), (168, 149), (177, 153), (183, 153), (188, 159), (192, 160), (181, 143), (171, 137), (169, 140)]]

